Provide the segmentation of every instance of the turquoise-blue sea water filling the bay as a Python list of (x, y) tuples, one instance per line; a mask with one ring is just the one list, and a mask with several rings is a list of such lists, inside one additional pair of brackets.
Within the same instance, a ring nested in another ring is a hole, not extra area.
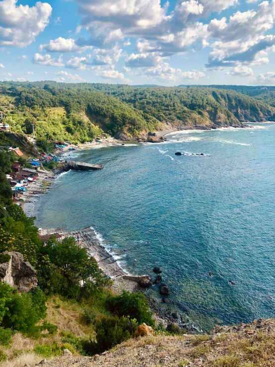
[(104, 169), (59, 177), (36, 222), (92, 225), (113, 253), (126, 250), (128, 271), (160, 266), (174, 306), (199, 327), (274, 317), (275, 124), (251, 126), (73, 152)]

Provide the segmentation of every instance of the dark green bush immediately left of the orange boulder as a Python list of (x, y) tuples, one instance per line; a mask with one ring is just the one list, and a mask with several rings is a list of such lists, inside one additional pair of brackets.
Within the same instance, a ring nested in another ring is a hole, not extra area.
[(83, 343), (83, 350), (89, 355), (102, 353), (134, 336), (137, 320), (129, 317), (105, 316), (95, 324), (96, 341)]

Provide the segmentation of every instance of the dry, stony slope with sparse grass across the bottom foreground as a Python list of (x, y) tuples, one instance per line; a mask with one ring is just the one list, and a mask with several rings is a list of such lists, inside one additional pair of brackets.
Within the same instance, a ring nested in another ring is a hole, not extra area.
[(103, 356), (64, 357), (43, 366), (60, 364), (67, 367), (274, 367), (275, 320), (217, 327), (210, 335), (130, 339)]

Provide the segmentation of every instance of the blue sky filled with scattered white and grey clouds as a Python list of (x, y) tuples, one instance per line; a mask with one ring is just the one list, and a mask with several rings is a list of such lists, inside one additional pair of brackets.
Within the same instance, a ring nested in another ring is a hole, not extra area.
[(0, 80), (275, 85), (275, 0), (2, 0)]

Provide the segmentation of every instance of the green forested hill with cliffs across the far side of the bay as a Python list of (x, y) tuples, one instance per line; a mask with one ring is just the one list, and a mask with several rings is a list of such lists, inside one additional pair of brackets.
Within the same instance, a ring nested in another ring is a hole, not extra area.
[(207, 128), (274, 121), (275, 108), (235, 90), (101, 83), (1, 82), (4, 122), (40, 139), (85, 142), (106, 132), (126, 139), (166, 124)]

